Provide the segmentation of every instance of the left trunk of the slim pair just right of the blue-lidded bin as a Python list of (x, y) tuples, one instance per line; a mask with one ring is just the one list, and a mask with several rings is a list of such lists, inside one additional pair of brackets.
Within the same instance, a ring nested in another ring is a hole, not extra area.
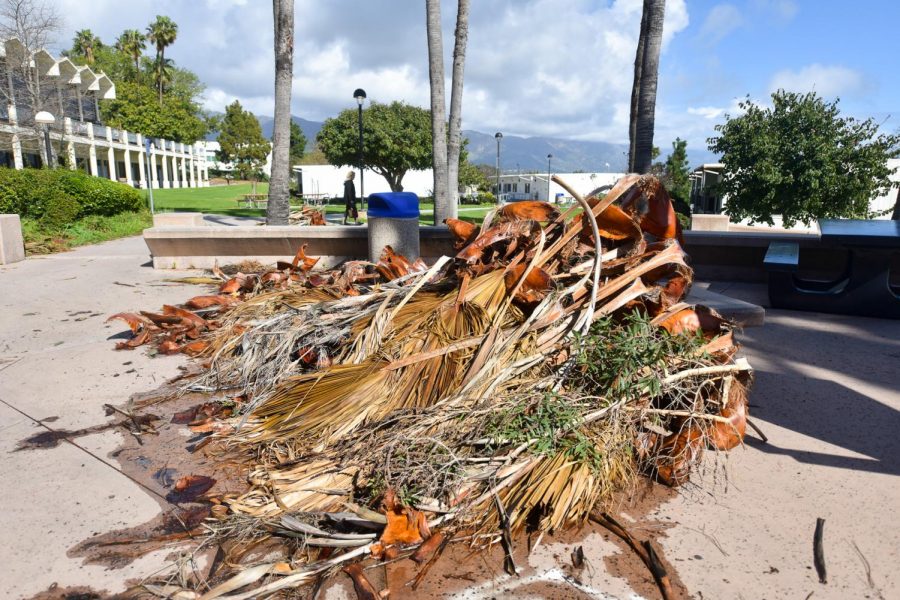
[(428, 33), (428, 75), (431, 84), (431, 149), (434, 169), (434, 223), (450, 216), (447, 198), (447, 127), (444, 93), (444, 44), (441, 37), (441, 1), (425, 0)]

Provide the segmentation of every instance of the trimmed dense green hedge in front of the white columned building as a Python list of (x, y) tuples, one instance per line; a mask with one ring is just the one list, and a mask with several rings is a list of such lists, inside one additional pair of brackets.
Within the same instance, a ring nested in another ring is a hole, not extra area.
[(137, 211), (144, 199), (131, 186), (68, 169), (0, 167), (0, 213), (47, 219), (112, 216)]

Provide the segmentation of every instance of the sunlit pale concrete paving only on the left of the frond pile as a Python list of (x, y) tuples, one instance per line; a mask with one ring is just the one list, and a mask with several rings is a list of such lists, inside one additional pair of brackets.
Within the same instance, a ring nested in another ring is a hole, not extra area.
[[(111, 430), (46, 450), (13, 452), (46, 431), (79, 429), (177, 374), (183, 357), (151, 359), (143, 349), (116, 352), (116, 312), (182, 302), (195, 286), (154, 272), (143, 239), (128, 238), (0, 267), (0, 597), (60, 587), (121, 591), (128, 578), (165, 563), (167, 551), (120, 570), (82, 565), (66, 553), (95, 533), (139, 525), (159, 504), (108, 457), (120, 444)], [(90, 453), (90, 454), (89, 454)]]

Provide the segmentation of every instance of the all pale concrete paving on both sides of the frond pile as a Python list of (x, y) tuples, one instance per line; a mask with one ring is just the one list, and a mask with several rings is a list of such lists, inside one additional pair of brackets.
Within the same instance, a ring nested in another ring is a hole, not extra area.
[[(166, 551), (119, 570), (67, 556), (94, 533), (159, 511), (108, 456), (120, 433), (79, 438), (80, 447), (12, 451), (45, 427), (102, 423), (104, 403), (121, 404), (177, 372), (182, 357), (113, 351), (110, 336), (122, 326), (104, 324), (121, 310), (184, 300), (193, 288), (164, 281), (177, 275), (154, 272), (140, 238), (0, 267), (0, 597), (27, 597), (54, 582), (117, 592), (165, 564)], [(710, 289), (765, 303), (764, 286)], [(700, 486), (655, 512), (667, 557), (697, 598), (879, 598), (858, 547), (881, 597), (896, 597), (900, 321), (769, 310), (766, 324), (741, 338), (756, 368), (753, 419), (769, 443), (751, 435), (718, 471), (710, 462)], [(826, 519), (827, 585), (812, 568), (816, 517)], [(621, 579), (604, 575), (611, 547), (584, 543), (592, 579), (627, 597)], [(554, 546), (561, 557), (566, 550)]]

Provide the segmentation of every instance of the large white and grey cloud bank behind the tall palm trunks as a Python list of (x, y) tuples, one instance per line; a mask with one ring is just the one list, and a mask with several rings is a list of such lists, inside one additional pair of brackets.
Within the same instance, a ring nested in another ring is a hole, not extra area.
[[(111, 43), (144, 30), (157, 14), (179, 25), (166, 51), (207, 85), (204, 106), (239, 99), (273, 112), (271, 5), (248, 0), (51, 0), (65, 15), (57, 49), (90, 28)], [(444, 2), (449, 77), (455, 2)], [(473, 2), (463, 127), (511, 134), (622, 142), (628, 132), (642, 0)], [(425, 8), (421, 0), (295, 0), (293, 113), (323, 120), (370, 99), (428, 106)], [(689, 21), (685, 0), (666, 3), (662, 69), (671, 40)], [(147, 54), (152, 54), (148, 48)], [(448, 84), (449, 92), (449, 84)]]

